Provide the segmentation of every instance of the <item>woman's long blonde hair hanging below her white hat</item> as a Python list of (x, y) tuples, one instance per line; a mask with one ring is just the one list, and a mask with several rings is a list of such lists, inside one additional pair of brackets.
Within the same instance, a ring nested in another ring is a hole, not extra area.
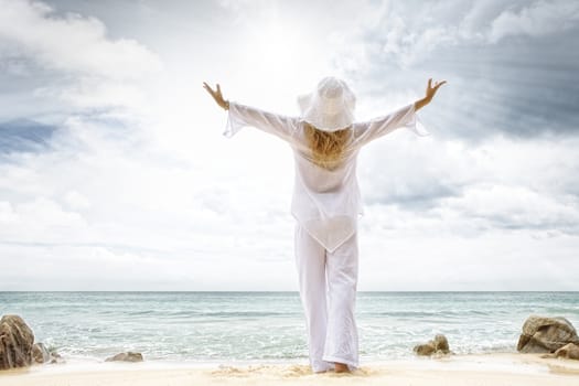
[(343, 159), (350, 128), (329, 132), (317, 129), (308, 122), (304, 128), (313, 163), (323, 169), (335, 169)]

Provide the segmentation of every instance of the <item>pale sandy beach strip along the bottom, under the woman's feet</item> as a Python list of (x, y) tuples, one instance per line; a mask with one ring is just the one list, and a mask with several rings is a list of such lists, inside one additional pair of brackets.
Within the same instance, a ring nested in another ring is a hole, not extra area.
[(352, 374), (312, 374), (308, 365), (97, 363), (32, 366), (0, 372), (1, 386), (181, 385), (579, 385), (579, 361), (539, 354), (452, 355), (367, 363)]

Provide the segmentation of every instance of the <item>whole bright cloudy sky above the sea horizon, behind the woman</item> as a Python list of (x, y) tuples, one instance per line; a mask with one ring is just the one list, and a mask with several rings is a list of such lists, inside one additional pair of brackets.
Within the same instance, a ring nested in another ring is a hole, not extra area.
[(358, 290), (579, 290), (579, 2), (0, 0), (0, 290), (297, 290), (293, 161), (202, 88), (371, 119)]

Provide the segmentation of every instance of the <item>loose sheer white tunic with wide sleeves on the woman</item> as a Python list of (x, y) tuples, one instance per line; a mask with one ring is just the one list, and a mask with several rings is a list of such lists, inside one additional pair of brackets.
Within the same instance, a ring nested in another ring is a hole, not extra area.
[(355, 122), (350, 130), (343, 161), (328, 170), (312, 162), (302, 118), (230, 101), (224, 135), (232, 137), (246, 126), (278, 136), (293, 149), (296, 182), (291, 214), (329, 251), (334, 251), (356, 232), (357, 216), (363, 214), (356, 178), (360, 149), (397, 128), (408, 128), (418, 136), (429, 135), (420, 124), (414, 104), (369, 121)]

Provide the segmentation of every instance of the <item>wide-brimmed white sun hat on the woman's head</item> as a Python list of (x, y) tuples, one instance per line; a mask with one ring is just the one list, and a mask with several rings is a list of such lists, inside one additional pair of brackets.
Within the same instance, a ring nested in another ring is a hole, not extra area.
[(324, 77), (311, 94), (298, 97), (301, 116), (322, 131), (337, 131), (354, 122), (356, 97), (346, 83), (333, 76)]

